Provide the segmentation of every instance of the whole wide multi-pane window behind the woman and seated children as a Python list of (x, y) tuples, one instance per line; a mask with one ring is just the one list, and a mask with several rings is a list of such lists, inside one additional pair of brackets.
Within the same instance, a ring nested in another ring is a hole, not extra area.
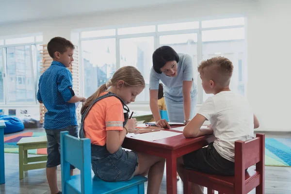
[(85, 96), (92, 95), (119, 67), (132, 65), (140, 70), (146, 81), (146, 88), (136, 101), (148, 103), (152, 53), (163, 45), (192, 57), (194, 81), (198, 85), (198, 103), (210, 95), (206, 95), (202, 89), (197, 65), (202, 60), (219, 55), (233, 62), (230, 88), (244, 95), (244, 32), (243, 17), (81, 32)]

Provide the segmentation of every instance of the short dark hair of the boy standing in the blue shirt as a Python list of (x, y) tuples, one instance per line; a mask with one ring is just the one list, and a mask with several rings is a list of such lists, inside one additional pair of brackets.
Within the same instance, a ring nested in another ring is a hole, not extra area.
[(54, 37), (48, 43), (49, 56), (54, 58), (55, 52), (60, 52), (63, 54), (67, 48), (75, 49), (75, 46), (71, 43), (71, 41), (65, 38)]

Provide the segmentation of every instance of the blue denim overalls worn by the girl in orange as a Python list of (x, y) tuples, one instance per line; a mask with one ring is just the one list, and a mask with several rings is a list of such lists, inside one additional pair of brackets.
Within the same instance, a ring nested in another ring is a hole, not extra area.
[[(107, 94), (94, 100), (86, 109), (86, 111), (82, 113), (79, 134), (80, 138), (85, 138), (84, 120), (92, 106), (99, 100), (111, 96), (117, 97), (121, 101), (123, 109), (126, 111), (126, 113), (124, 113), (125, 121), (123, 122), (123, 127), (126, 125), (129, 115), (128, 106), (120, 97), (111, 92), (108, 92)], [(106, 181), (123, 181), (129, 180), (133, 177), (133, 173), (138, 165), (138, 158), (136, 153), (132, 151), (125, 151), (121, 146), (115, 153), (111, 154), (107, 150), (106, 145), (97, 146), (91, 144), (91, 163), (92, 170), (97, 177)]]

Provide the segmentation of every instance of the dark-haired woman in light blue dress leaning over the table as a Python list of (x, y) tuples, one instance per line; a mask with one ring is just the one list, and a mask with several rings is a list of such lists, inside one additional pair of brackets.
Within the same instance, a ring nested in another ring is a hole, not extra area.
[(153, 53), (153, 66), (149, 78), (150, 109), (158, 127), (170, 128), (161, 119), (158, 106), (159, 82), (163, 83), (164, 99), (169, 122), (184, 123), (194, 117), (197, 101), (197, 86), (193, 79), (192, 58), (177, 54), (169, 46), (162, 46)]

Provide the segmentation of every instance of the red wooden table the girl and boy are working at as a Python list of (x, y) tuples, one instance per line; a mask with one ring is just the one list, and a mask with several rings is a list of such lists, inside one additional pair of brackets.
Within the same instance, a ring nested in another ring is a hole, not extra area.
[[(174, 127), (172, 127), (172, 129), (173, 128)], [(166, 130), (180, 132), (171, 129)], [(180, 133), (181, 135), (153, 142), (126, 137), (122, 144), (122, 147), (124, 148), (166, 159), (167, 194), (177, 194), (177, 158), (201, 147), (207, 146), (214, 141), (213, 135), (186, 139), (182, 132)]]

